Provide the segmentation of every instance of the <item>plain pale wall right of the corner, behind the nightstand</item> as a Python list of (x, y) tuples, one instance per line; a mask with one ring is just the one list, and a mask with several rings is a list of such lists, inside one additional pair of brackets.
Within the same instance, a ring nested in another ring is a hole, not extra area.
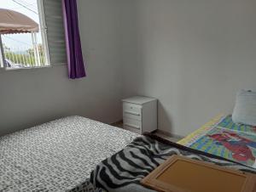
[(159, 99), (161, 130), (186, 135), (230, 112), (237, 90), (256, 89), (256, 1), (136, 0), (130, 8), (136, 30), (123, 49), (123, 97)]

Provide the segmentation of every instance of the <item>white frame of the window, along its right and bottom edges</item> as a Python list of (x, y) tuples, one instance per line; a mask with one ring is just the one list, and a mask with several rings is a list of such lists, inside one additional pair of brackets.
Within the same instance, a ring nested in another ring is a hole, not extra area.
[(52, 67), (49, 59), (49, 45), (47, 38), (47, 25), (45, 22), (45, 12), (44, 12), (44, 0), (37, 0), (38, 3), (38, 18), (39, 18), (39, 29), (42, 37), (42, 44), (44, 48), (44, 59), (45, 63), (42, 66), (32, 66), (32, 67), (20, 67), (20, 68), (9, 68), (4, 62), (4, 52), (3, 52), (3, 41), (0, 36), (0, 71), (22, 71), (31, 69), (41, 69)]

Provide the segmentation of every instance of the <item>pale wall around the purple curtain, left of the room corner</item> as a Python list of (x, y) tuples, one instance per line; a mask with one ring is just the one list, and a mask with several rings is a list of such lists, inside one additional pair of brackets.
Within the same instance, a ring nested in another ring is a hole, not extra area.
[(67, 78), (66, 66), (0, 72), (0, 135), (61, 116), (121, 119), (118, 0), (79, 0), (88, 76)]

